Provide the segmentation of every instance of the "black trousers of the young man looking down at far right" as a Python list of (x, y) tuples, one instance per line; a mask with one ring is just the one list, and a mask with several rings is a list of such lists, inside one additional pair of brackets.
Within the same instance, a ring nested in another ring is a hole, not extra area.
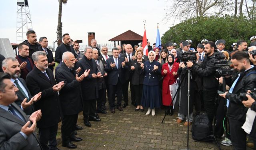
[(244, 122), (229, 118), (230, 136), (234, 150), (246, 150), (246, 132), (241, 128)]

